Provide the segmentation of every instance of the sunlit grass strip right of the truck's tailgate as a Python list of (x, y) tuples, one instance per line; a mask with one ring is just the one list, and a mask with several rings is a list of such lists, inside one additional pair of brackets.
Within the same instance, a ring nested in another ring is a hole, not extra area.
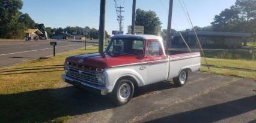
[[(210, 65), (210, 73), (216, 73), (224, 76), (237, 76), (241, 78), (254, 79), (256, 81), (256, 61), (253, 60), (227, 60), (206, 58)], [(201, 59), (204, 65), (201, 67), (202, 72), (209, 72), (206, 62)]]

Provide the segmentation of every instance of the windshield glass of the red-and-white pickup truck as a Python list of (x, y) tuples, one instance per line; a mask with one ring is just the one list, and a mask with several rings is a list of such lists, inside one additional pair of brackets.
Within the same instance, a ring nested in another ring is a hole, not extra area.
[(144, 55), (144, 40), (133, 38), (112, 39), (106, 53), (128, 54), (134, 56)]

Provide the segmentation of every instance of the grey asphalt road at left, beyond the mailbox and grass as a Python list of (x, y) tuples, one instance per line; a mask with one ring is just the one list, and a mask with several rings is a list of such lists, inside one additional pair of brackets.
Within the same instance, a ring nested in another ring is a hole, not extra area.
[[(56, 41), (56, 53), (84, 47), (84, 42)], [(91, 45), (91, 44), (87, 44)], [(0, 67), (53, 55), (49, 41), (0, 41)]]

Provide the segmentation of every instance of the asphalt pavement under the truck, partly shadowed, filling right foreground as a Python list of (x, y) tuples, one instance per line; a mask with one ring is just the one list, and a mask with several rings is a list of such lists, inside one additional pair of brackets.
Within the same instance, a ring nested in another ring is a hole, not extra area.
[(69, 104), (68, 122), (256, 122), (256, 82), (230, 76), (190, 73), (184, 87), (148, 85), (120, 107), (69, 84), (57, 94)]

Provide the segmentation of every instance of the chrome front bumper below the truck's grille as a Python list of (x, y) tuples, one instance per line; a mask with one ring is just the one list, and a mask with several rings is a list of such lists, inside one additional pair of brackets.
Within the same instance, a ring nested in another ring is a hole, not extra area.
[(67, 76), (65, 74), (61, 75), (61, 77), (62, 77), (63, 81), (68, 82), (69, 84), (81, 87), (85, 90), (93, 91), (93, 92), (99, 93), (101, 95), (108, 94), (108, 89), (105, 88), (105, 87), (97, 87), (97, 86), (94, 86), (94, 85), (86, 84), (84, 82), (72, 79), (72, 78), (70, 78), (69, 76)]

